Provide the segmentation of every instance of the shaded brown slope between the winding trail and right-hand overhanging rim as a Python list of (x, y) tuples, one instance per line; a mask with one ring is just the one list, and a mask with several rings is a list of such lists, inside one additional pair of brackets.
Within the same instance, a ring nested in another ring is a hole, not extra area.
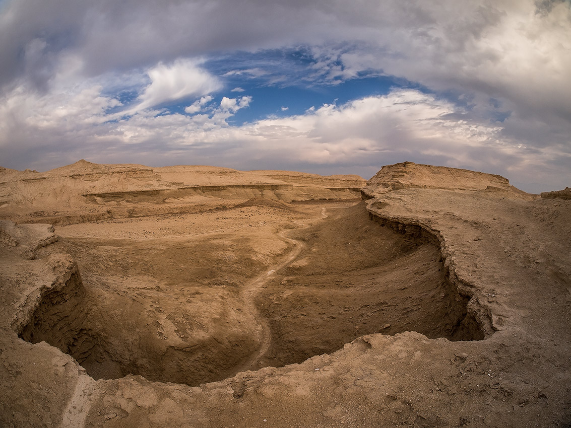
[(484, 338), (466, 319), (468, 297), (449, 282), (437, 243), (380, 225), (364, 203), (289, 236), (304, 248), (258, 298), (271, 322), (270, 365), (331, 353), (370, 333)]

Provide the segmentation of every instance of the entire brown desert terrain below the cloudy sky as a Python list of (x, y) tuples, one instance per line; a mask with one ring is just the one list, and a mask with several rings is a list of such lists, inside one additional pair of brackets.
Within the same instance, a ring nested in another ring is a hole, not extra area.
[(571, 196), (0, 168), (2, 427), (569, 427)]

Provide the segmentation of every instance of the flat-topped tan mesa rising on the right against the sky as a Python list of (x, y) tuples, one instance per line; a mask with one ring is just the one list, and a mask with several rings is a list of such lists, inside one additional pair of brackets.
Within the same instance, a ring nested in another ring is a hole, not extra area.
[(365, 199), (391, 190), (404, 188), (500, 191), (524, 194), (509, 184), (508, 179), (468, 169), (435, 167), (413, 162), (386, 165), (361, 189)]

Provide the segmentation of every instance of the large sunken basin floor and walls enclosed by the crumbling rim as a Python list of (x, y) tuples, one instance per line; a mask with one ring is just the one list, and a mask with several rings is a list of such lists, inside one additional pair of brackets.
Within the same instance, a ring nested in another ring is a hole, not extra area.
[(368, 333), (480, 340), (436, 240), (364, 203), (256, 199), (202, 213), (58, 227), (78, 269), (20, 337), (95, 379), (200, 383), (331, 353)]

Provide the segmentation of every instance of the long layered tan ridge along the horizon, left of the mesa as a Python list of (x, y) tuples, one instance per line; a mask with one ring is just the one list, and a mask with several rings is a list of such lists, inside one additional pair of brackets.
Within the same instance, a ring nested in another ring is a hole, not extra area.
[[(236, 171), (206, 166), (149, 168), (80, 160), (47, 172), (0, 169), (0, 219), (73, 224), (113, 218), (212, 209), (252, 197), (335, 200), (359, 196), (356, 175)], [(141, 207), (141, 204), (145, 204)]]

